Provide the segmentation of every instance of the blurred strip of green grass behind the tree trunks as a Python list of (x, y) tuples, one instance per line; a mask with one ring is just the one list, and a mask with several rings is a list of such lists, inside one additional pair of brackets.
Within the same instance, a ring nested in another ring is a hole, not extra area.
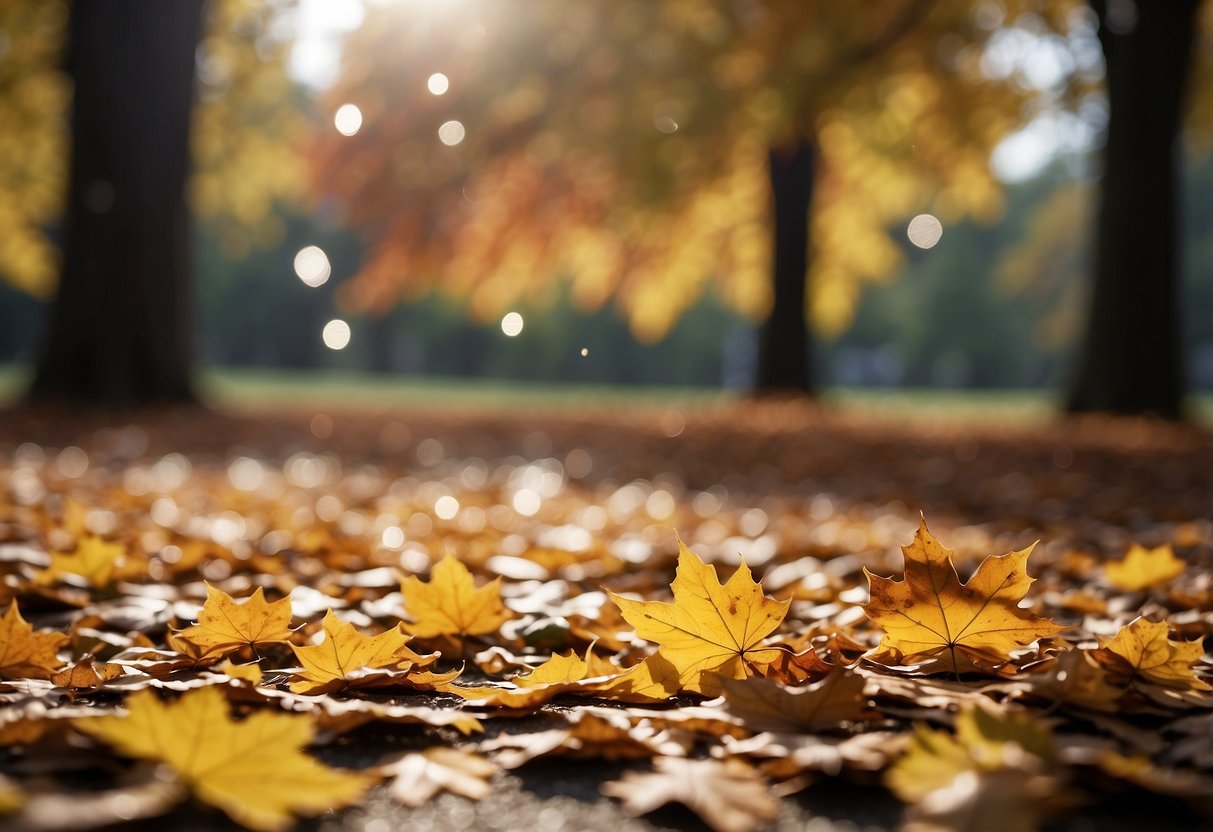
[[(0, 365), (0, 404), (16, 401), (28, 383), (21, 365)], [(713, 408), (738, 395), (706, 387), (559, 384), (491, 378), (383, 376), (337, 370), (211, 369), (199, 388), (210, 404), (235, 409), (341, 406), (349, 409), (585, 409), (631, 406)], [(1057, 412), (1054, 391), (939, 391), (831, 388), (824, 400), (856, 414), (929, 421), (1031, 423)], [(1213, 395), (1195, 397), (1201, 424), (1213, 426)]]

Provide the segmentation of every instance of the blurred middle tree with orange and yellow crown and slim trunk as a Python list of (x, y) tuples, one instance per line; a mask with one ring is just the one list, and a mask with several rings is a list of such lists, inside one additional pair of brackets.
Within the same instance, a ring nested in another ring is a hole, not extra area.
[(894, 222), (998, 215), (987, 159), (1035, 90), (981, 56), (1016, 11), (374, 7), (330, 96), (363, 120), (317, 149), (318, 178), (370, 230), (351, 298), (437, 286), (489, 319), (563, 278), (655, 341), (714, 284), (763, 321), (756, 386), (810, 389), (807, 258), (813, 319), (837, 335), (901, 262)]

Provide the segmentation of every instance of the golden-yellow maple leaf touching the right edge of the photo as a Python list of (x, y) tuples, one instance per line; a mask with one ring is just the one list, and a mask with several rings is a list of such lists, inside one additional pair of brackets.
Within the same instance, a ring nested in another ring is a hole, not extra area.
[(1140, 677), (1163, 688), (1213, 690), (1198, 679), (1192, 665), (1205, 655), (1200, 639), (1172, 642), (1164, 621), (1138, 617), (1104, 639), (1092, 656), (1114, 677)]

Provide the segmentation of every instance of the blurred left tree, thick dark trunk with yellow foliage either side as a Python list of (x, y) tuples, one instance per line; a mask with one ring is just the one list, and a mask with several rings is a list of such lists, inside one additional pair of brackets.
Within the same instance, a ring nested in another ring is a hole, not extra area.
[(13, 229), (0, 272), (35, 296), (55, 292), (35, 399), (193, 398), (190, 136), (194, 201), (228, 221), (229, 249), (273, 243), (269, 203), (303, 193), (287, 41), (272, 28), (281, 5), (213, 2), (205, 40), (204, 0), (5, 5), (0, 107), (17, 150), (0, 167), (0, 221)]

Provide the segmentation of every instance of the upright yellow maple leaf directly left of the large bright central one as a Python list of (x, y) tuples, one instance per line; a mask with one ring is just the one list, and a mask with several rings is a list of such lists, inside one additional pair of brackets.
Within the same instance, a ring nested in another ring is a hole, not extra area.
[(410, 575), (400, 592), (412, 616), (404, 628), (418, 638), (486, 636), (513, 617), (501, 603), (500, 577), (477, 587), (467, 566), (450, 555), (438, 562), (428, 583)]

